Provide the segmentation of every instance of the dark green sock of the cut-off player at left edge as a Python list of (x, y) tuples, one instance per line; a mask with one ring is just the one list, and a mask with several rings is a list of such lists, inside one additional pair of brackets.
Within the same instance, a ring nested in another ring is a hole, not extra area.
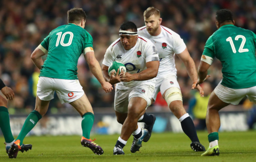
[(13, 142), (13, 134), (11, 133), (10, 118), (8, 109), (4, 106), (0, 106), (0, 128), (4, 134), (4, 140), (6, 143)]

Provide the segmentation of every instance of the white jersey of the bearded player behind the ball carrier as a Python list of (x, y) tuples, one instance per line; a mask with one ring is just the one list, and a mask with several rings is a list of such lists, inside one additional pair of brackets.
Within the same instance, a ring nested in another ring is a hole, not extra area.
[(160, 65), (157, 77), (164, 77), (167, 74), (176, 75), (174, 56), (175, 53), (181, 53), (186, 49), (186, 44), (180, 35), (169, 28), (160, 26), (161, 33), (158, 36), (152, 36), (148, 33), (146, 26), (138, 28), (138, 34), (148, 38), (154, 43), (158, 50)]

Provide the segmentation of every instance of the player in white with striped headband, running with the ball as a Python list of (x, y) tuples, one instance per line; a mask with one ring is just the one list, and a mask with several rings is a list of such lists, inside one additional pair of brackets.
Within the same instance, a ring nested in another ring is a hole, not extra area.
[[(120, 38), (115, 40), (106, 51), (102, 63), (103, 76), (115, 87), (115, 114), (122, 124), (121, 135), (115, 144), (113, 154), (123, 155), (123, 147), (131, 134), (134, 140), (131, 152), (139, 151), (141, 143), (148, 134), (147, 129), (141, 129), (137, 122), (145, 113), (154, 93), (155, 79), (158, 73), (159, 57), (156, 47), (150, 40), (137, 34), (137, 26), (133, 22), (124, 22), (119, 30)], [(126, 66), (117, 75), (108, 75), (108, 68), (113, 61), (119, 61)], [(119, 75), (118, 75), (119, 74)], [(145, 123), (153, 123), (153, 118), (145, 118)]]

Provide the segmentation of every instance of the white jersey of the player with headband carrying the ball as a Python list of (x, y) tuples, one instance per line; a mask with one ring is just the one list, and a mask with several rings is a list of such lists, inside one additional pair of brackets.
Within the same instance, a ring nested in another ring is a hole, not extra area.
[[(158, 61), (158, 53), (154, 44), (145, 37), (138, 35), (138, 40), (133, 48), (125, 50), (119, 39), (115, 40), (107, 49), (102, 64), (110, 66), (113, 61), (119, 61), (126, 67), (126, 72), (130, 74), (139, 73), (145, 69), (146, 63), (150, 61)], [(117, 89), (126, 89), (149, 83), (155, 85), (155, 79), (145, 81), (130, 81), (117, 83)]]

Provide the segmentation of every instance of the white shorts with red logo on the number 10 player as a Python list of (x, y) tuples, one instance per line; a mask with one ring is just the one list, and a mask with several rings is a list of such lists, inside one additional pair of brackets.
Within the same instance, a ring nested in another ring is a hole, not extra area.
[(84, 94), (83, 87), (78, 79), (57, 79), (51, 77), (39, 77), (37, 83), (37, 96), (43, 101), (54, 98), (54, 91), (61, 103), (70, 103), (81, 98)]

